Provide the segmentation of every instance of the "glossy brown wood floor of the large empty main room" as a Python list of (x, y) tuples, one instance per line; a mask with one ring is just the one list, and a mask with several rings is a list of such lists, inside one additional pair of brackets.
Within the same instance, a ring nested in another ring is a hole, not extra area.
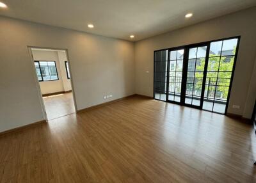
[(256, 182), (251, 125), (143, 97), (0, 136), (0, 182)]

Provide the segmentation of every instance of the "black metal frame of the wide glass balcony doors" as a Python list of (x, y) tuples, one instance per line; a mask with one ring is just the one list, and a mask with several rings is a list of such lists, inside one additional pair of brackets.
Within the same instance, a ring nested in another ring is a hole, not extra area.
[[(238, 55), (238, 52), (239, 52), (239, 45), (240, 45), (240, 40), (241, 40), (241, 36), (232, 36), (232, 37), (228, 37), (228, 38), (220, 38), (220, 39), (217, 39), (217, 40), (209, 40), (209, 41), (206, 41), (206, 42), (199, 42), (199, 43), (195, 43), (195, 44), (188, 44), (188, 45), (182, 45), (182, 46), (177, 46), (177, 47), (169, 47), (169, 48), (164, 48), (164, 49), (159, 49), (159, 50), (155, 50), (154, 51), (154, 79), (153, 79), (153, 95), (154, 95), (154, 99), (155, 100), (160, 100), (160, 99), (156, 99), (155, 97), (155, 56), (156, 56), (156, 52), (159, 52), (159, 51), (166, 51), (168, 50), (168, 60), (170, 60), (170, 51), (172, 50), (178, 50), (178, 49), (187, 49), (185, 52), (188, 54), (188, 49), (189, 47), (200, 47), (202, 45), (207, 45), (207, 48), (210, 49), (210, 45), (211, 45), (211, 42), (218, 42), (218, 41), (225, 41), (225, 40), (230, 40), (230, 39), (235, 39), (237, 38), (237, 47), (236, 47), (236, 54), (234, 55), (234, 65), (233, 65), (233, 68), (232, 68), (232, 73), (231, 73), (231, 77), (230, 77), (230, 84), (229, 84), (229, 88), (228, 88), (228, 95), (227, 95), (227, 103), (226, 103), (226, 106), (225, 106), (225, 113), (219, 113), (221, 115), (227, 115), (227, 109), (228, 109), (228, 104), (229, 104), (229, 100), (230, 100), (230, 93), (231, 93), (231, 89), (232, 89), (232, 84), (233, 84), (233, 79), (234, 79), (234, 72), (236, 70), (236, 61), (237, 61), (237, 55)], [(186, 56), (186, 55), (184, 55)], [(229, 56), (229, 55), (227, 55)], [(233, 56), (233, 55), (232, 55)], [(186, 56), (188, 57), (188, 55)], [(207, 60), (208, 60), (209, 56), (207, 56)], [(208, 61), (207, 61), (208, 63)], [(183, 68), (187, 68), (188, 65), (186, 65), (186, 61), (184, 61), (184, 66)], [(168, 61), (168, 69), (170, 68), (170, 62)], [(184, 73), (186, 72), (186, 70), (184, 71)], [(205, 64), (205, 70), (204, 72), (206, 73), (207, 72), (207, 64)], [(184, 77), (184, 76), (182, 76)], [(186, 78), (186, 76), (184, 77)], [(169, 81), (168, 81), (169, 82)], [(205, 81), (204, 81), (204, 86), (205, 86)], [(185, 87), (183, 87), (185, 88)], [(168, 89), (168, 86), (166, 87), (166, 91), (169, 90)], [(202, 88), (202, 90), (205, 90), (205, 88)], [(186, 92), (186, 91), (183, 91), (183, 93)], [(204, 97), (204, 95), (201, 96), (202, 98)], [(203, 100), (203, 99), (200, 99), (200, 100)], [(182, 102), (175, 102), (175, 101), (170, 101), (168, 100), (168, 96), (166, 95), (166, 100), (161, 100), (161, 101), (164, 101), (164, 102), (170, 102), (170, 103), (173, 103), (173, 104), (179, 104), (181, 106), (189, 106), (189, 105), (186, 105), (186, 104), (182, 104)], [(189, 106), (189, 107), (193, 107), (193, 106)], [(194, 108), (197, 108), (197, 109), (201, 109), (201, 110), (204, 110), (204, 111), (209, 111), (209, 110), (206, 110), (206, 109), (202, 109), (202, 106), (200, 105), (200, 107), (195, 107)], [(210, 111), (212, 113), (218, 113), (216, 111)]]

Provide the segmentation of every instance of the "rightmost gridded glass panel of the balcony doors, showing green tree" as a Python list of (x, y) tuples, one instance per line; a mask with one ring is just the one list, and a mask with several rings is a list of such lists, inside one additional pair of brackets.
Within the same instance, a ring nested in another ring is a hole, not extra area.
[(203, 109), (225, 113), (238, 38), (211, 42)]

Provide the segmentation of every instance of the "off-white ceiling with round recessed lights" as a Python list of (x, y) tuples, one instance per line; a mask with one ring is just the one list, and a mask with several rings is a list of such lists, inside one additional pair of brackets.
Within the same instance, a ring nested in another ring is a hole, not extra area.
[[(0, 0), (0, 15), (97, 35), (141, 40), (256, 6), (256, 0)], [(185, 19), (184, 15), (193, 13)], [(89, 29), (92, 23), (95, 28)]]

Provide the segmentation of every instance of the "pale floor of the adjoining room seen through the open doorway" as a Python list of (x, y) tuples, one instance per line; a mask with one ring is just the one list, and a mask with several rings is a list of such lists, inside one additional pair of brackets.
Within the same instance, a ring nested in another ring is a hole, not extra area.
[(72, 92), (43, 97), (48, 120), (75, 113)]

